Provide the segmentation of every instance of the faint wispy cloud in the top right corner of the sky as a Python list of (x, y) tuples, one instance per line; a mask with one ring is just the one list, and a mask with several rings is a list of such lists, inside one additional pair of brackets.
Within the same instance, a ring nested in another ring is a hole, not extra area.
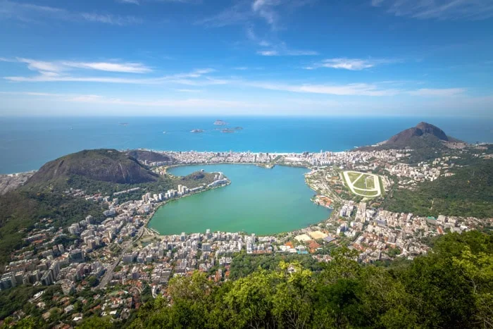
[(484, 20), (493, 17), (489, 0), (372, 0), (396, 16), (437, 20)]

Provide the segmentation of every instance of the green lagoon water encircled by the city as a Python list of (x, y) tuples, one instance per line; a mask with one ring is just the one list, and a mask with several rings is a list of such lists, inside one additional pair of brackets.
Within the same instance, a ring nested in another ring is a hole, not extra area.
[(315, 192), (305, 183), (305, 168), (222, 164), (181, 166), (169, 173), (182, 176), (202, 168), (223, 172), (231, 184), (170, 201), (156, 211), (149, 228), (163, 235), (207, 228), (268, 235), (305, 228), (330, 215), (329, 209), (310, 200)]

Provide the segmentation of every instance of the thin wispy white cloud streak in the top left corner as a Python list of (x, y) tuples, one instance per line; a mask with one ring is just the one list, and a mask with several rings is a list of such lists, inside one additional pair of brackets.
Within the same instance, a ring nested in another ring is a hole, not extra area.
[(0, 0), (0, 19), (15, 19), (23, 22), (37, 22), (39, 20), (68, 20), (89, 21), (110, 25), (135, 25), (142, 20), (132, 15), (113, 15), (103, 13), (85, 13), (68, 11), (64, 8), (39, 6), (36, 4), (20, 4), (8, 0)]

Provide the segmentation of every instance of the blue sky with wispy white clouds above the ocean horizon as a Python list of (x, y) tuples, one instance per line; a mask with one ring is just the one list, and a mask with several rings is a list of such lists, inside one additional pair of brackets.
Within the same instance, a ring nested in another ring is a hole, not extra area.
[(493, 117), (493, 0), (0, 0), (3, 116)]

